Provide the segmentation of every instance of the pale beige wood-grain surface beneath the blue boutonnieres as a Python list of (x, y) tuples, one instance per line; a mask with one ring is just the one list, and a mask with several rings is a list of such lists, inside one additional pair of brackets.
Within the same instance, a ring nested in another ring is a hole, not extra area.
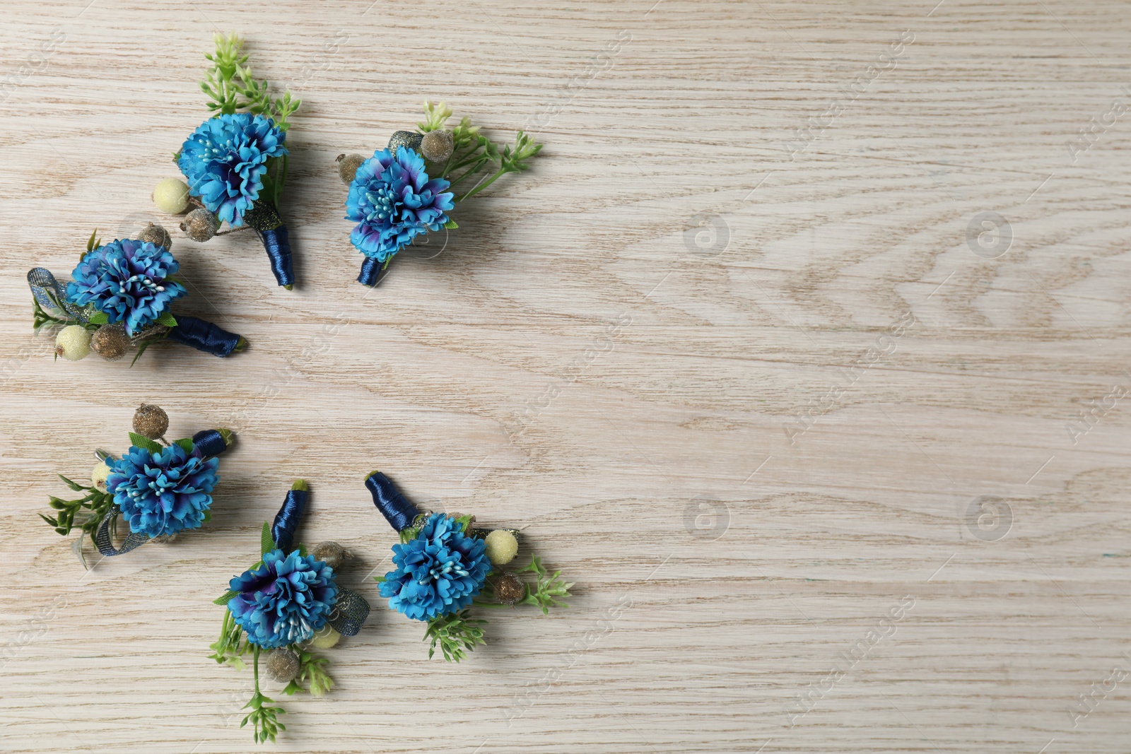
[[(303, 476), (303, 538), (351, 547), (374, 609), (277, 751), (1131, 751), (1128, 398), (1065, 428), (1131, 388), (1126, 3), (934, 3), (6, 2), (0, 748), (252, 751), (209, 600)], [(172, 227), (149, 192), (215, 31), (304, 99), (301, 284), (253, 239), (178, 237), (182, 311), (250, 350), (52, 363), (25, 271), (69, 271), (93, 226)], [(425, 97), (499, 136), (547, 115), (546, 148), (370, 292), (334, 157)], [(967, 244), (985, 211), (995, 259)], [(215, 520), (84, 572), (35, 514), (144, 400), (239, 433)], [(368, 579), (394, 541), (372, 468), (525, 527), (572, 608), (428, 661)], [(1010, 527), (967, 519), (983, 495)]]

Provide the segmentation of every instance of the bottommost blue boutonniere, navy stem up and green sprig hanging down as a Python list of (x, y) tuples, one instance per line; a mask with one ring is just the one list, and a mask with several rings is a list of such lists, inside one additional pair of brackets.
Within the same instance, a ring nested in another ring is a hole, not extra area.
[(251, 656), (254, 691), (240, 727), (250, 722), (257, 744), (274, 742), (279, 730), (286, 730), (278, 721), (286, 711), (259, 688), (260, 655), (266, 675), (286, 684), (283, 693), (321, 696), (334, 687), (334, 679), (327, 673), (329, 660), (311, 650), (329, 649), (342, 636), (355, 635), (369, 617), (364, 598), (337, 583), (337, 570), (348, 557), (340, 545), (323, 541), (309, 553), (294, 546), (308, 494), (305, 482), (294, 483), (275, 522), (264, 522), (259, 562), (233, 577), (228, 591), (215, 600), (227, 609), (210, 657), (243, 669), (244, 658)]

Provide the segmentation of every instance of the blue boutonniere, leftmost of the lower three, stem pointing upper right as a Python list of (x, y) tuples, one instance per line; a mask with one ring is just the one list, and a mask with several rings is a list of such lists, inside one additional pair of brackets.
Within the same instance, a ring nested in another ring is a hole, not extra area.
[[(68, 487), (84, 495), (77, 500), (52, 496), (54, 515), (40, 513), (40, 518), (62, 536), (79, 528), (74, 548), (84, 565), (86, 536), (100, 553), (112, 557), (150, 540), (172, 541), (211, 518), (211, 491), (219, 480), (216, 457), (232, 444), (232, 433), (205, 430), (166, 443), (167, 431), (169, 415), (159, 406), (143, 404), (133, 414), (130, 449), (121, 458), (95, 451), (98, 462), (89, 485), (59, 475)], [(119, 518), (128, 531), (122, 544), (114, 547)]]

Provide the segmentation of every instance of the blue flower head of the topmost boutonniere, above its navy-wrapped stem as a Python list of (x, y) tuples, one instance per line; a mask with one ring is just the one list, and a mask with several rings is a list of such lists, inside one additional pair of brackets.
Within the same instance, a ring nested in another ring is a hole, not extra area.
[(189, 181), (189, 193), (234, 227), (259, 198), (267, 161), (288, 154), (286, 132), (275, 121), (251, 113), (209, 118), (181, 146), (176, 164)]

